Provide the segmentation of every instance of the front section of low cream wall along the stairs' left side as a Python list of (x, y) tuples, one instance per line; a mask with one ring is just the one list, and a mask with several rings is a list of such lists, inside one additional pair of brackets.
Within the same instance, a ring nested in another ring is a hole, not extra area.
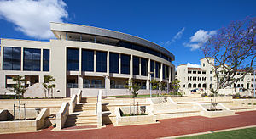
[(69, 103), (62, 103), (60, 111), (56, 114), (56, 129), (61, 130), (69, 114)]

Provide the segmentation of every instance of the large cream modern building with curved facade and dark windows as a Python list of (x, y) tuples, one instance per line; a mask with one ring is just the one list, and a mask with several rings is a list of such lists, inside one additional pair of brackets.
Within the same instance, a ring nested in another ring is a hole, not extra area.
[[(55, 78), (55, 97), (124, 95), (127, 80), (148, 93), (152, 78), (174, 80), (175, 57), (164, 47), (137, 36), (85, 25), (50, 23), (56, 39), (49, 42), (1, 39), (0, 92), (9, 92), (12, 77), (26, 78), (26, 97), (44, 97), (45, 75)], [(150, 72), (149, 72), (150, 71)], [(168, 86), (166, 86), (168, 87)]]

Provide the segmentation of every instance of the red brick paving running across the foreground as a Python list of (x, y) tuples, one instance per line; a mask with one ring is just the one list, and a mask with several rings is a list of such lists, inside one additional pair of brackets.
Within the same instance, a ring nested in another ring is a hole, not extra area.
[(2, 134), (0, 138), (158, 138), (180, 136), (205, 131), (218, 131), (236, 127), (256, 125), (256, 111), (240, 112), (237, 115), (218, 118), (193, 116), (159, 120), (150, 125), (130, 125), (84, 131), (50, 131), (52, 128), (32, 133)]

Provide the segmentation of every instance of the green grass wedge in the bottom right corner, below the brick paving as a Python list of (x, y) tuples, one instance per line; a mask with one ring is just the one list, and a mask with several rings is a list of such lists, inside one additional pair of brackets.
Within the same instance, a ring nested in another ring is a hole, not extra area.
[(200, 136), (189, 136), (189, 137), (181, 137), (194, 139), (194, 138), (256, 138), (256, 127), (241, 129), (241, 130), (234, 130), (234, 131), (223, 131), (223, 132), (216, 132), (211, 134), (205, 134)]

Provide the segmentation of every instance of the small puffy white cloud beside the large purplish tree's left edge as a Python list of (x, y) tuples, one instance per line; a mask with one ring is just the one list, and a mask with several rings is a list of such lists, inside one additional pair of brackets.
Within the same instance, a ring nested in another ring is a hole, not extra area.
[(189, 42), (184, 42), (183, 45), (185, 47), (191, 47), (191, 51), (194, 51), (201, 47), (201, 45), (207, 42), (207, 39), (210, 36), (213, 36), (217, 33), (217, 31), (204, 31), (198, 30), (195, 32), (194, 36), (190, 37)]

